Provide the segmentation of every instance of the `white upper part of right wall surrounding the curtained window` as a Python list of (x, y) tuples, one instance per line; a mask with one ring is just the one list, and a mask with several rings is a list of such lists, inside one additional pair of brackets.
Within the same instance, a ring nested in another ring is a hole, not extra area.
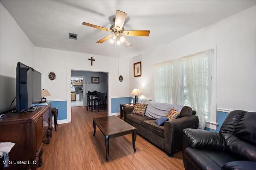
[(130, 74), (130, 91), (153, 98), (154, 63), (216, 48), (217, 107), (256, 111), (256, 6), (130, 60), (142, 62), (142, 77)]

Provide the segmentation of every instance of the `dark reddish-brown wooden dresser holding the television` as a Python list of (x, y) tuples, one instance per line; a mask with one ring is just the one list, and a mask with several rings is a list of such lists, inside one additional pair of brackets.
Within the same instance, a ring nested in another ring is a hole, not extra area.
[[(15, 143), (9, 153), (12, 164), (4, 170), (35, 170), (40, 167), (43, 164), (43, 144), (50, 143), (51, 135), (50, 104), (34, 112), (9, 113), (0, 119), (0, 142)], [(26, 164), (13, 164), (15, 161), (26, 161)]]

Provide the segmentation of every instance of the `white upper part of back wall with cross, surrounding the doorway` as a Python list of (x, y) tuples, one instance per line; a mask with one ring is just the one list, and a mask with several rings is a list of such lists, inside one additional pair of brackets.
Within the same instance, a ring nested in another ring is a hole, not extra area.
[[(70, 77), (71, 70), (108, 72), (108, 112), (111, 113), (111, 97), (129, 96), (129, 65), (128, 59), (119, 59), (119, 74), (124, 77), (118, 80), (118, 58), (97, 56), (92, 54), (63, 51), (50, 48), (35, 48), (35, 65), (42, 73), (42, 88), (52, 96), (49, 100), (67, 100), (67, 119), (70, 119)], [(95, 61), (90, 65), (88, 58)], [(50, 71), (55, 72), (56, 79), (48, 79)]]

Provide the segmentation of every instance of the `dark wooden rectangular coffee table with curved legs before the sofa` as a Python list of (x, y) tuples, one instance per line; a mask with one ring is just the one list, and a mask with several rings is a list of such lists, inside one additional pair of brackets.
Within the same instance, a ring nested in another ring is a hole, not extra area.
[(117, 118), (116, 116), (104, 116), (93, 118), (93, 136), (95, 136), (96, 125), (99, 127), (99, 130), (102, 131), (105, 136), (105, 146), (106, 146), (106, 161), (108, 161), (108, 149), (109, 149), (109, 139), (117, 136), (127, 135), (132, 133), (132, 146), (135, 149), (136, 141), (136, 128), (126, 123), (122, 119)]

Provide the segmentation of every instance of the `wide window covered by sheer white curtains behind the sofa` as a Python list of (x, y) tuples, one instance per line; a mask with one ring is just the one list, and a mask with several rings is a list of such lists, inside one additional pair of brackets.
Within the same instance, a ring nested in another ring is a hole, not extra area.
[(213, 52), (210, 49), (154, 65), (154, 100), (192, 107), (202, 129), (210, 119)]

